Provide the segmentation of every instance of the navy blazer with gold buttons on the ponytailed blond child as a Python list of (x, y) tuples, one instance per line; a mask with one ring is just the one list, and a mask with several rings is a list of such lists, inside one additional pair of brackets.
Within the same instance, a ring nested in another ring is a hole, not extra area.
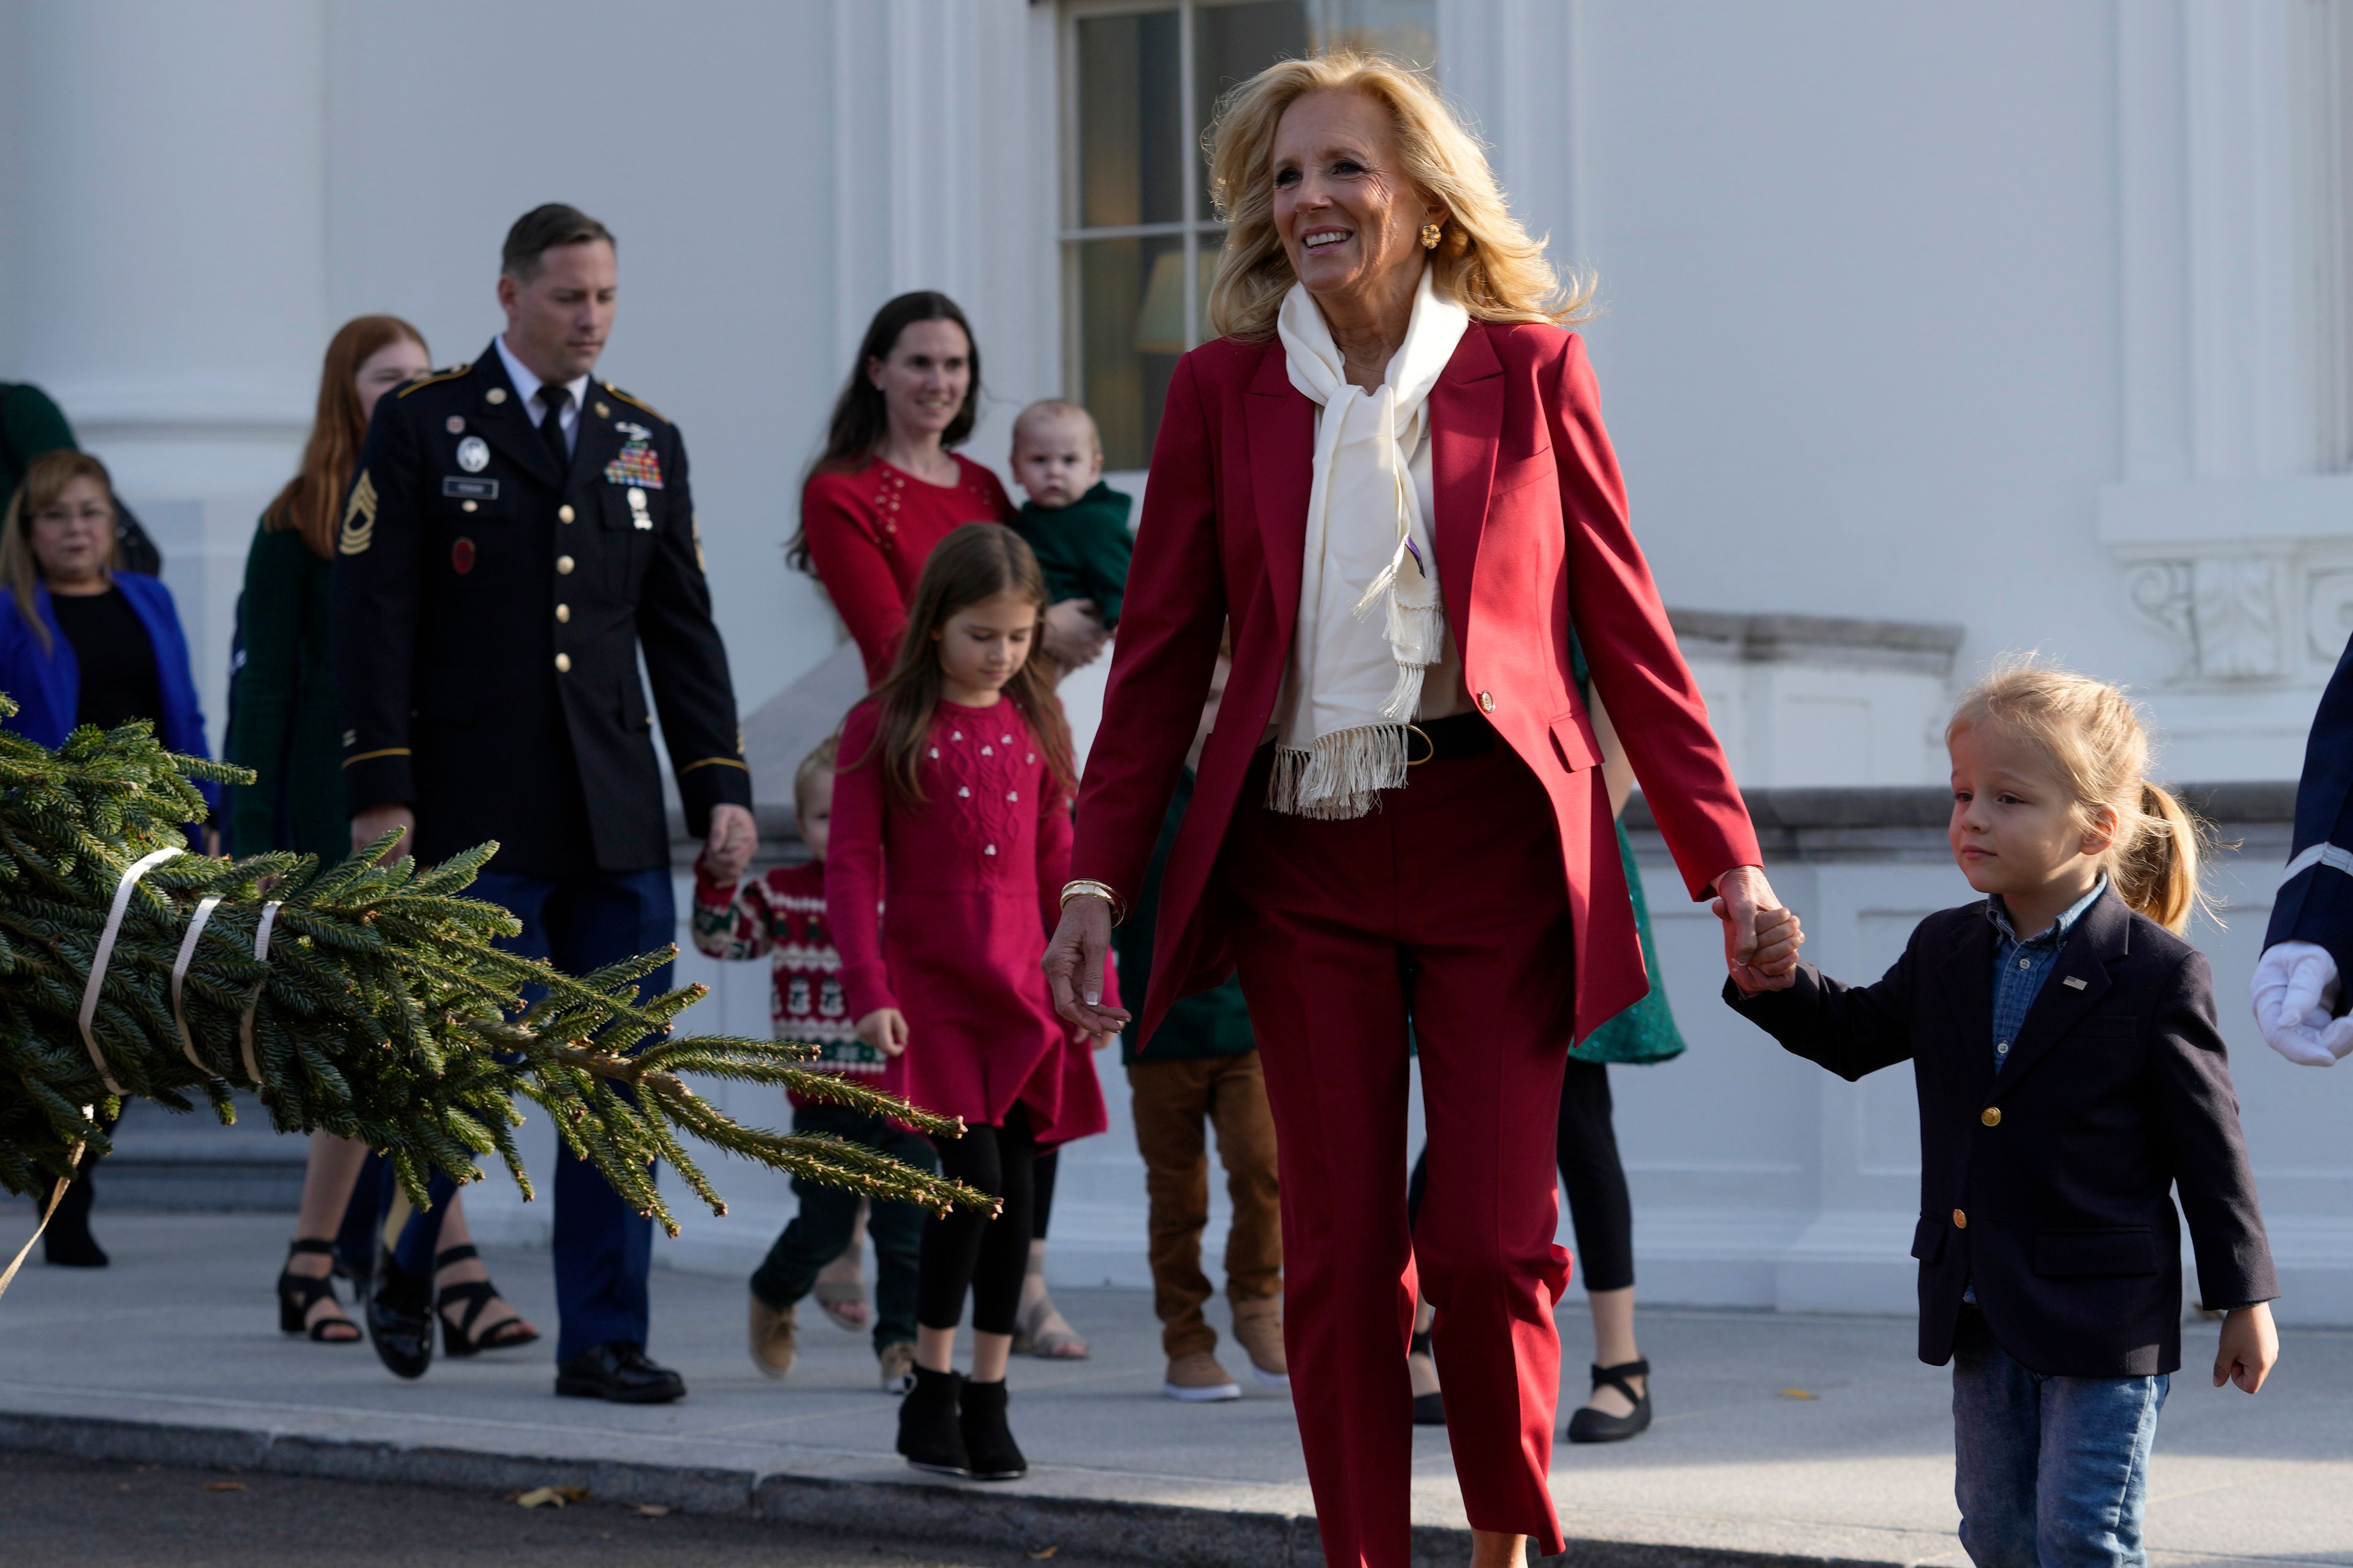
[(1929, 914), (1878, 985), (1812, 964), (1725, 999), (1784, 1048), (1859, 1079), (1911, 1060), (1920, 1093), (1920, 1359), (1953, 1356), (1960, 1293), (2024, 1366), (2146, 1378), (2181, 1366), (2181, 1229), (2207, 1307), (2280, 1293), (2202, 952), (2113, 886), (1993, 1072), (1986, 903)]

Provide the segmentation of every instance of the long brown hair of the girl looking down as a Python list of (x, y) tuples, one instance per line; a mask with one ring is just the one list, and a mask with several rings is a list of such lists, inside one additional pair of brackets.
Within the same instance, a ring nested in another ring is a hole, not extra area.
[[(1000, 522), (967, 522), (948, 534), (915, 578), (915, 599), (906, 609), (906, 630), (889, 675), (868, 693), (880, 710), (875, 743), (847, 766), (866, 766), (880, 755), (882, 788), (901, 804), (922, 802), (922, 743), (939, 712), (939, 649), (934, 632), (960, 609), (1009, 592), (1038, 607), (1038, 630), (1045, 630), (1045, 574), (1028, 543)], [(1005, 682), (1005, 696), (1038, 736), (1047, 769), (1064, 790), (1078, 788), (1071, 766), (1071, 724), (1061, 717), (1054, 677), (1035, 642), (1031, 656)]]

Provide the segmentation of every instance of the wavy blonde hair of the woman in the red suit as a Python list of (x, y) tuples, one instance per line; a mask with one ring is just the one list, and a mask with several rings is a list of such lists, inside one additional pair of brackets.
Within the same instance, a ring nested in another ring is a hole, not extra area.
[(1405, 176), (1442, 202), (1433, 282), (1478, 322), (1572, 324), (1586, 317), (1593, 277), (1562, 280), (1544, 240), (1511, 216), (1487, 150), (1438, 89), (1386, 54), (1334, 49), (1275, 61), (1231, 89), (1209, 125), (1209, 200), (1226, 221), (1226, 249), (1209, 284), (1209, 327), (1231, 339), (1275, 336), (1275, 315), (1297, 275), (1275, 233), (1273, 146), (1282, 110), (1311, 92), (1360, 92), (1388, 108)]

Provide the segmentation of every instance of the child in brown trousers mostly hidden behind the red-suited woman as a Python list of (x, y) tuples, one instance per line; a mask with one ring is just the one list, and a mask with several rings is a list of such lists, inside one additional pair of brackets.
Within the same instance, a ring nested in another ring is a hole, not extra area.
[[(1226, 686), (1226, 658), (1217, 661), (1209, 705), (1193, 736), (1186, 771), (1176, 778), (1160, 844), (1144, 872), (1136, 912), (1113, 931), (1120, 954), (1120, 987), (1144, 997), (1153, 969), (1153, 907), (1160, 903), (1160, 865), (1176, 844), (1193, 799), (1193, 766), (1217, 719)], [(1151, 1201), (1153, 1309), (1160, 1314), (1160, 1349), (1169, 1399), (1240, 1399), (1242, 1387), (1217, 1359), (1217, 1331), (1202, 1316), (1209, 1279), (1200, 1272), (1200, 1232), (1209, 1222), (1209, 1154), (1205, 1133), (1217, 1128), (1217, 1157), (1233, 1194), (1233, 1227), (1226, 1232), (1226, 1300), (1233, 1302), (1233, 1338), (1249, 1356), (1259, 1382), (1287, 1385), (1282, 1354), (1282, 1215), (1275, 1187), (1275, 1117), (1266, 1105), (1259, 1041), (1249, 1032), (1242, 987), (1231, 976), (1217, 990), (1186, 997), (1169, 1009), (1153, 1034), (1151, 1056), (1136, 1056), (1134, 1034), (1120, 1037), (1127, 1088), (1134, 1103), (1136, 1152), (1144, 1157), (1144, 1192)]]

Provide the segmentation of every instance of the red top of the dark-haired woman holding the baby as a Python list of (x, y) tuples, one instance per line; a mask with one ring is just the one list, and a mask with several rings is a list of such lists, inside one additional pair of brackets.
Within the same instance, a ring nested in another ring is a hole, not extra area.
[(1014, 503), (998, 477), (955, 458), (955, 484), (932, 484), (871, 458), (864, 468), (812, 473), (800, 491), (809, 564), (866, 658), (866, 684), (889, 675), (906, 630), (906, 602), (932, 548), (967, 522), (1007, 522)]

